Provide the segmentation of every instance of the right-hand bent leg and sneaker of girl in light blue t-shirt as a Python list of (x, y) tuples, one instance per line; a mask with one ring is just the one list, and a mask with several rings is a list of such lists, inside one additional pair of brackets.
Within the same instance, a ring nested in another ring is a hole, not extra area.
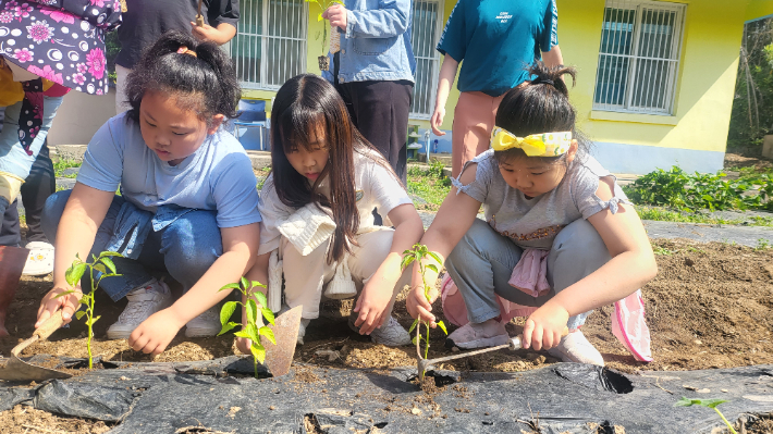
[[(160, 238), (159, 252), (163, 255), (163, 264), (172, 278), (180, 282), (185, 293), (223, 255), (223, 241), (216, 211), (187, 212), (164, 230), (151, 234), (149, 238), (151, 238), (150, 245), (155, 244), (154, 238)], [(147, 253), (148, 256), (140, 255), (140, 262), (152, 266), (152, 262), (157, 262), (152, 256), (155, 252), (149, 250)], [(210, 306), (204, 313), (191, 320), (185, 327), (187, 337), (214, 336), (219, 332), (220, 311), (217, 306)]]

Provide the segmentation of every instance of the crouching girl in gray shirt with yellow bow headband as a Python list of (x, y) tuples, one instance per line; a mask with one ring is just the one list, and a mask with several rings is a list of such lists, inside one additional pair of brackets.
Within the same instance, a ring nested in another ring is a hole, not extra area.
[[(654, 256), (614, 176), (575, 131), (562, 79), (574, 79), (575, 70), (538, 62), (529, 72), (536, 78), (511, 89), (499, 107), (493, 149), (465, 164), (421, 238), (444, 260), (467, 308), (469, 322), (446, 346), (506, 344), (501, 298), (536, 308), (524, 326), (525, 348), (603, 365), (579, 326), (592, 309), (653, 278)], [(486, 222), (476, 219), (481, 204)], [(427, 274), (434, 288), (437, 274)], [(416, 266), (408, 312), (434, 325), (438, 294), (428, 300), (421, 282)]]

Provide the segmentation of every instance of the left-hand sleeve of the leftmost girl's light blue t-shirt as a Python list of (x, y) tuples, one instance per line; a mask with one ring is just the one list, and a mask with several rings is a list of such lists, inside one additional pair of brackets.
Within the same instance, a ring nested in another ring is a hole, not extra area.
[[(77, 182), (101, 191), (115, 191), (123, 175), (123, 140), (142, 137), (131, 134), (124, 116), (113, 117), (102, 125), (88, 142)], [(145, 144), (143, 144), (145, 146)]]

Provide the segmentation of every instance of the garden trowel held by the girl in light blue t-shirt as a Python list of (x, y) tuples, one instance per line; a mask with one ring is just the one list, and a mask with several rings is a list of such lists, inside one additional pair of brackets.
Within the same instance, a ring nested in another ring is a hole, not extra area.
[(56, 369), (48, 369), (44, 367), (38, 367), (36, 364), (27, 363), (19, 358), (19, 355), (28, 346), (33, 345), (38, 340), (47, 339), (51, 336), (51, 333), (59, 330), (62, 326), (64, 320), (62, 320), (62, 311), (58, 310), (51, 318), (46, 320), (46, 322), (38, 327), (33, 337), (22, 342), (21, 344), (13, 347), (11, 350), (11, 357), (5, 360), (2, 364), (3, 359), (0, 359), (0, 380), (4, 381), (36, 381), (41, 382), (51, 379), (69, 379), (72, 375), (66, 372), (57, 371)]

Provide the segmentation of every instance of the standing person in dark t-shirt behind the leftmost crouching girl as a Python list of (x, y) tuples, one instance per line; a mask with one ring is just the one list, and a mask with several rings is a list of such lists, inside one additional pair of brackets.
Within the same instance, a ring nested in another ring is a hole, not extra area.
[(115, 112), (130, 109), (126, 76), (143, 50), (169, 30), (191, 30), (198, 40), (219, 46), (236, 35), (238, 0), (201, 0), (204, 25), (196, 25), (199, 0), (126, 0), (123, 24), (118, 30), (121, 51), (115, 58)]

